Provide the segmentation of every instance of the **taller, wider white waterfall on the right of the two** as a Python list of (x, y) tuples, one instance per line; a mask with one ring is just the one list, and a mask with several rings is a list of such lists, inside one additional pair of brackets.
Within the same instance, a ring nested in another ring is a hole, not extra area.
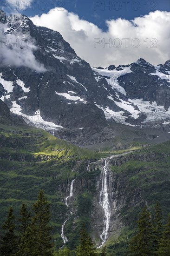
[(106, 242), (108, 229), (109, 229), (110, 216), (111, 216), (109, 196), (108, 196), (108, 192), (107, 192), (107, 173), (108, 173), (107, 160), (105, 159), (105, 166), (104, 166), (104, 170), (102, 172), (102, 189), (100, 192), (100, 201), (99, 201), (100, 205), (103, 207), (103, 209), (105, 211), (105, 215), (103, 218), (103, 221), (104, 221), (103, 232), (100, 235), (100, 238), (103, 241), (98, 248), (101, 248), (103, 246), (103, 244)]

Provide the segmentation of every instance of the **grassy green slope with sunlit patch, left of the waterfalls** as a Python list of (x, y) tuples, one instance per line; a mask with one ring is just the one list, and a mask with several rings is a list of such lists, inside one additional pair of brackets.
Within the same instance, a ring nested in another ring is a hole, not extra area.
[(24, 201), (31, 208), (38, 190), (44, 189), (52, 202), (52, 225), (60, 246), (59, 234), (66, 212), (62, 202), (65, 197), (63, 186), (74, 175), (79, 175), (72, 173), (76, 160), (91, 158), (92, 151), (59, 140), (44, 130), (13, 123), (1, 124), (0, 224), (9, 206), (13, 206), (18, 216), (21, 203)]

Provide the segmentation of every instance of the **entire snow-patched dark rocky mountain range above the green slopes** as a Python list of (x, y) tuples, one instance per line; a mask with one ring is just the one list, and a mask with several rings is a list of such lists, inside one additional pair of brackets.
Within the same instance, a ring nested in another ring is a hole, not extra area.
[(169, 132), (170, 61), (90, 67), (59, 32), (24, 15), (0, 11), (0, 25), (0, 99), (26, 122), (80, 144), (104, 131), (113, 138), (115, 123)]

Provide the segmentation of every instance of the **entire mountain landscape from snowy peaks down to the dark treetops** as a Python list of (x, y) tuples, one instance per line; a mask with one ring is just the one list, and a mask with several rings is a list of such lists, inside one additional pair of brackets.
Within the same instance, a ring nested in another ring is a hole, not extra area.
[(90, 67), (59, 32), (3, 11), (0, 36), (0, 225), (44, 189), (56, 249), (75, 249), (85, 222), (126, 255), (144, 204), (170, 212), (170, 60)]

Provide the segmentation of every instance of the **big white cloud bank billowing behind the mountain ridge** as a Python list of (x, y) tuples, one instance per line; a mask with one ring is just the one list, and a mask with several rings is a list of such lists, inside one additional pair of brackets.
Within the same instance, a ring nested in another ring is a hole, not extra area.
[[(111, 64), (128, 64), (139, 58), (155, 65), (167, 61), (170, 58), (169, 15), (168, 12), (157, 10), (131, 21), (122, 18), (106, 20), (106, 32), (65, 9), (52, 9), (41, 16), (32, 17), (31, 20), (35, 25), (59, 31), (78, 56), (90, 65), (107, 67)], [(96, 47), (95, 38), (100, 39), (100, 44)], [(119, 40), (115, 40), (116, 38)], [(130, 39), (127, 40), (127, 47), (123, 39)], [(105, 44), (109, 40), (111, 48), (109, 44)], [(121, 47), (117, 47), (118, 43), (122, 43)], [(140, 46), (136, 47), (139, 43)]]

